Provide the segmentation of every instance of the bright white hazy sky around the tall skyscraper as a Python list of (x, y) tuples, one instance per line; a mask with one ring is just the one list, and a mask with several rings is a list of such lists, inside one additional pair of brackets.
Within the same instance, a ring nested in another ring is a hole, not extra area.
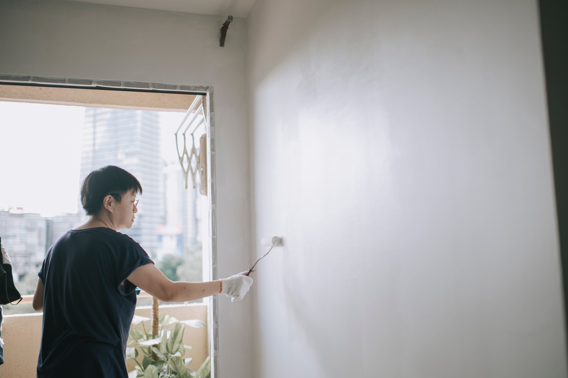
[[(183, 113), (159, 113), (162, 157), (176, 161)], [(84, 107), (0, 101), (0, 209), (77, 211), (84, 118)]]

